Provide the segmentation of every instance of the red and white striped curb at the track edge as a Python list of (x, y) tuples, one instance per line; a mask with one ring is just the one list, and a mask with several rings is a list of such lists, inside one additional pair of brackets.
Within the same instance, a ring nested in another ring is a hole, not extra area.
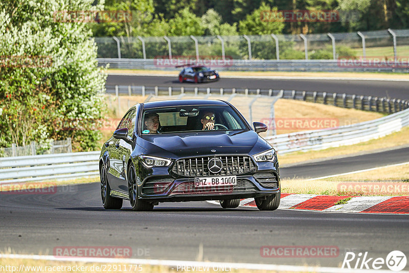
[[(335, 204), (351, 197), (345, 204)], [(218, 201), (208, 201), (219, 204)], [(240, 207), (256, 208), (254, 198), (240, 201)], [(359, 212), (409, 214), (409, 196), (329, 196), (315, 194), (282, 193), (279, 209), (296, 209), (323, 212)]]

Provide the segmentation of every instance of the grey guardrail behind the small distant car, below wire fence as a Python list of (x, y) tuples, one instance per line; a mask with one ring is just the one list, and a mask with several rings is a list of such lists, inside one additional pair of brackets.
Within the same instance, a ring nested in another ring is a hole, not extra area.
[[(97, 58), (98, 65), (109, 64), (110, 69), (137, 70), (175, 70), (175, 67), (162, 67), (155, 59)], [(183, 62), (183, 61), (181, 61)], [(184, 63), (191, 63), (190, 60)], [(177, 65), (177, 62), (176, 64)], [(208, 66), (211, 66), (209, 64)], [(220, 71), (343, 71), (343, 72), (401, 72), (409, 73), (408, 65), (395, 63), (344, 64), (339, 60), (231, 60), (229, 65), (216, 67)]]

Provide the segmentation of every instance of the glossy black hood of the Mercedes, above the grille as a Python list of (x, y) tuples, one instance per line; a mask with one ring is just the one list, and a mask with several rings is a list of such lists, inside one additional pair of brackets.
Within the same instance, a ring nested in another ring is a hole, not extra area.
[[(143, 135), (137, 144), (146, 154), (180, 158), (212, 154), (253, 154), (271, 147), (255, 131), (206, 131)], [(214, 152), (212, 150), (215, 150)]]

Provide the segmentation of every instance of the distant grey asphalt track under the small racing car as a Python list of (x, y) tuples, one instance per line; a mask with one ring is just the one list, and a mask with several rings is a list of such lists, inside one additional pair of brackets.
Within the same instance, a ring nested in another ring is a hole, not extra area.
[[(223, 77), (223, 75), (221, 75)], [(211, 87), (211, 88), (249, 88), (249, 89), (285, 89), (305, 90), (316, 92), (337, 92), (350, 95), (372, 97), (387, 97), (391, 99), (409, 99), (409, 82), (381, 81), (381, 80), (308, 80), (308, 79), (231, 79), (221, 78), (210, 83), (179, 83), (175, 77), (164, 76), (125, 76), (109, 75), (107, 86), (112, 85), (145, 85), (145, 86), (172, 86)]]

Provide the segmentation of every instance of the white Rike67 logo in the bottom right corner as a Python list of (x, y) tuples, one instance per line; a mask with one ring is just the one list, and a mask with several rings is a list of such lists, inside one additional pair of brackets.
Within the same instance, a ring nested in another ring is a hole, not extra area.
[(392, 251), (388, 254), (386, 259), (381, 257), (373, 258), (368, 256), (368, 252), (358, 253), (347, 252), (345, 254), (342, 268), (348, 269), (386, 269), (387, 266), (393, 271), (400, 271), (406, 266), (406, 256), (401, 251)]

